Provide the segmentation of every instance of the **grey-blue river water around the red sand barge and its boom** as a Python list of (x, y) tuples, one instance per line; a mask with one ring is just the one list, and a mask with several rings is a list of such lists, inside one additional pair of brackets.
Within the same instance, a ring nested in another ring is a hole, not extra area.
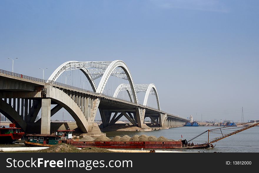
[[(110, 131), (104, 132), (109, 138), (114, 136), (128, 135), (132, 137), (133, 135), (142, 135), (160, 137), (164, 136), (167, 139), (191, 139), (196, 135), (208, 130), (218, 127), (177, 127), (170, 129), (154, 130), (154, 131)], [(225, 131), (225, 134), (231, 133), (232, 131)], [(224, 132), (223, 132), (224, 133)], [(182, 135), (182, 138), (181, 138)], [(219, 137), (220, 134), (210, 133), (210, 139)], [(194, 139), (190, 143), (204, 143), (208, 140), (208, 134), (204, 133), (198, 138)], [(213, 143), (215, 148), (208, 149), (168, 149), (172, 151), (185, 151), (185, 152), (259, 152), (259, 127), (252, 127), (250, 129), (244, 130), (235, 135), (229, 136), (216, 143)], [(165, 149), (162, 149), (165, 150)]]

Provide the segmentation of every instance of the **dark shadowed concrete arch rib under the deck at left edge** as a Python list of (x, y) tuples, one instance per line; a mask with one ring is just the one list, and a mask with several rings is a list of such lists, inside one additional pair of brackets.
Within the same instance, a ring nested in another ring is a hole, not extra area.
[(3, 99), (0, 99), (0, 112), (12, 123), (16, 121), (16, 123), (25, 132), (27, 124), (24, 121), (23, 117), (20, 116), (20, 114), (17, 111), (15, 111), (15, 109), (7, 102), (5, 102)]

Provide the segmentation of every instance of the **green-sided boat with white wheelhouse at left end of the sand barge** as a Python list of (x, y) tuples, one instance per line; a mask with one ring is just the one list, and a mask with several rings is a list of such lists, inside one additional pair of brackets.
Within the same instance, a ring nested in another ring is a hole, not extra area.
[(26, 135), (25, 146), (30, 147), (51, 147), (60, 143), (69, 143), (74, 130), (57, 130), (54, 135), (29, 134)]

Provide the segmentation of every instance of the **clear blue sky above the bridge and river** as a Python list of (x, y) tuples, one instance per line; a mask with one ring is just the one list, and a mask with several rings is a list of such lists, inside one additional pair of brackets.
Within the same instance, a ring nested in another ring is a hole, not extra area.
[[(259, 1), (0, 1), (0, 68), (45, 78), (63, 62), (123, 60), (163, 110), (259, 119)], [(196, 118), (195, 118), (196, 119)]]

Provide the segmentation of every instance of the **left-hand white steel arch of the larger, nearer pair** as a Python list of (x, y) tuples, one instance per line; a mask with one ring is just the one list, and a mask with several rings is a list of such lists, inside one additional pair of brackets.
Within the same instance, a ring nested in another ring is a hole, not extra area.
[[(60, 65), (49, 77), (48, 80), (52, 80), (52, 81), (56, 81), (57, 78), (64, 72), (64, 71), (67, 71), (66, 68), (67, 66), (69, 65), (73, 65), (73, 64), (76, 64), (78, 63), (79, 61), (67, 61), (67, 62), (64, 62), (62, 65)], [(94, 92), (96, 92), (96, 84), (94, 82), (94, 80), (92, 80), (92, 76), (91, 74), (89, 73), (89, 70), (87, 68), (76, 68), (76, 69), (80, 69), (84, 75), (87, 77), (87, 79), (89, 80), (89, 83), (93, 89)]]

